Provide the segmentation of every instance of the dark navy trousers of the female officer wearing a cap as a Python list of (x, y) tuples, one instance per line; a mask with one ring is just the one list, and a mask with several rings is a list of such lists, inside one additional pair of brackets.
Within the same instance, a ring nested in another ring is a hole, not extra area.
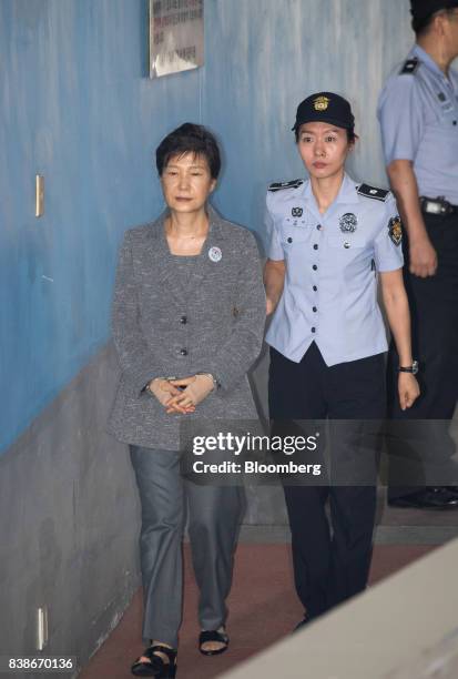
[[(274, 420), (381, 420), (386, 408), (384, 355), (328, 367), (315, 343), (299, 364), (271, 348), (268, 394)], [(296, 590), (306, 612), (314, 618), (366, 587), (375, 479), (373, 485), (358, 486), (284, 484), (284, 491)]]

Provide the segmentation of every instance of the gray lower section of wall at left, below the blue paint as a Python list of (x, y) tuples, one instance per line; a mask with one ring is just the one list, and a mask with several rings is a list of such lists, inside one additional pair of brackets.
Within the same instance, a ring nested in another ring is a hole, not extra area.
[[(139, 503), (128, 448), (104, 432), (118, 379), (105, 347), (0, 459), (0, 655), (88, 659), (139, 586)], [(30, 677), (30, 675), (28, 675)]]

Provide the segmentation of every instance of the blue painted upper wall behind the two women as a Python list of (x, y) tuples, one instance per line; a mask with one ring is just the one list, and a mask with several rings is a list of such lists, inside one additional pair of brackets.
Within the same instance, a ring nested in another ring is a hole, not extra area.
[(146, 17), (146, 0), (0, 0), (0, 449), (109, 338), (118, 244), (162, 205), (152, 153), (173, 126), (220, 135), (215, 204), (259, 232), (266, 184), (303, 173), (289, 129), (312, 91), (350, 98), (354, 174), (386, 182), (375, 108), (408, 0), (206, 0), (205, 67), (155, 81)]

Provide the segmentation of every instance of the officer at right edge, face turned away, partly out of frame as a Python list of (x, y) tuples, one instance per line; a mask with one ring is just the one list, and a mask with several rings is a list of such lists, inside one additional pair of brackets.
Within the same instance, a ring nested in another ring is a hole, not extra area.
[[(458, 0), (413, 0), (411, 14), (417, 42), (378, 103), (387, 172), (407, 231), (405, 285), (421, 384), (415, 406), (400, 411), (393, 345), (389, 414), (404, 434), (388, 439), (388, 501), (446, 509), (458, 508), (449, 434), (458, 393), (458, 73), (450, 68), (458, 55)], [(404, 472), (406, 452), (420, 463), (419, 479)]]

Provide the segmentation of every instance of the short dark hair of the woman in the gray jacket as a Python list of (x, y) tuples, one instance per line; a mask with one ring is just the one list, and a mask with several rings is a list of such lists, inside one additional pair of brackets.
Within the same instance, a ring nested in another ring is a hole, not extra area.
[(174, 155), (193, 153), (206, 159), (212, 179), (217, 179), (221, 170), (220, 149), (215, 136), (203, 125), (184, 123), (170, 132), (156, 149), (156, 168), (162, 176), (164, 168)]

